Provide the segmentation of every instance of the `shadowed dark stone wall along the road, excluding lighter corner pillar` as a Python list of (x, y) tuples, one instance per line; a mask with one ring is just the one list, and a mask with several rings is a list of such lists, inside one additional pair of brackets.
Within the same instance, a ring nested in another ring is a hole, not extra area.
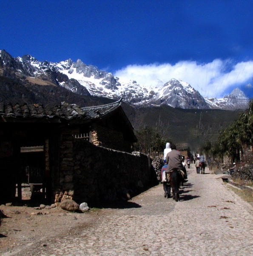
[(74, 143), (74, 199), (127, 199), (157, 180), (152, 170), (147, 155), (136, 156), (78, 140)]

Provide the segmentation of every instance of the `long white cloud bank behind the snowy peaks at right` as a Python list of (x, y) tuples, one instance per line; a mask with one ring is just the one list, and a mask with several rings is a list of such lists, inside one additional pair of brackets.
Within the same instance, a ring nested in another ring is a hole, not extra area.
[(215, 59), (210, 63), (179, 61), (174, 65), (148, 64), (128, 65), (114, 74), (120, 79), (135, 80), (147, 87), (162, 86), (170, 79), (181, 79), (189, 83), (202, 96), (220, 98), (230, 87), (244, 85), (253, 77), (253, 61), (239, 62)]

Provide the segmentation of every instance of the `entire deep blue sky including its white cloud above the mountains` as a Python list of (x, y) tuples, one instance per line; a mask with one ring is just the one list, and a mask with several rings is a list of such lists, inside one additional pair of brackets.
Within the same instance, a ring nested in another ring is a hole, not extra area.
[(203, 96), (253, 97), (250, 0), (2, 1), (0, 49), (81, 59), (150, 86), (171, 78)]

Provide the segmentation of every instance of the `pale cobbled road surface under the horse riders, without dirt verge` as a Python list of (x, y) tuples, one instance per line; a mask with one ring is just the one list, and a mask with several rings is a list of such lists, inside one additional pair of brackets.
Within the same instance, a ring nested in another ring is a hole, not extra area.
[(251, 256), (253, 208), (226, 186), (208, 169), (205, 175), (188, 169), (179, 202), (164, 198), (160, 184), (33, 255)]

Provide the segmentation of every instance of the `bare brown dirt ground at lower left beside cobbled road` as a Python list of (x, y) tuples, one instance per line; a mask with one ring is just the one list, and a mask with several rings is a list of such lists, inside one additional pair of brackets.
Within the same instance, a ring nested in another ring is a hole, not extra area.
[(43, 246), (45, 240), (74, 232), (93, 223), (103, 210), (87, 213), (67, 212), (60, 207), (34, 209), (1, 205), (5, 215), (0, 226), (0, 255), (16, 255), (31, 245)]

